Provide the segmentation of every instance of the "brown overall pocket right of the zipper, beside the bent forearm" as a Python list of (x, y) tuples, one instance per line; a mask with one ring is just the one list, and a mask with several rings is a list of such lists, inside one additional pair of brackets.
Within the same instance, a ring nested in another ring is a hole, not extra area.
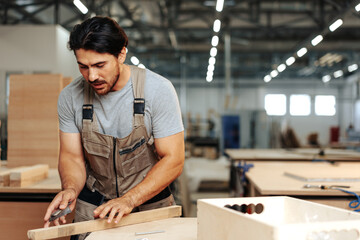
[(130, 146), (119, 149), (121, 170), (124, 178), (151, 167), (151, 147), (145, 137), (135, 140)]

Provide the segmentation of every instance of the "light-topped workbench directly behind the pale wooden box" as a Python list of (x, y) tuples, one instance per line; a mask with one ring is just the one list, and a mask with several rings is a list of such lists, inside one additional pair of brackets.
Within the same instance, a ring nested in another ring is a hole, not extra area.
[(245, 174), (248, 196), (291, 196), (350, 210), (356, 198), (339, 190), (304, 188), (311, 185), (346, 185), (360, 194), (360, 163), (253, 162)]

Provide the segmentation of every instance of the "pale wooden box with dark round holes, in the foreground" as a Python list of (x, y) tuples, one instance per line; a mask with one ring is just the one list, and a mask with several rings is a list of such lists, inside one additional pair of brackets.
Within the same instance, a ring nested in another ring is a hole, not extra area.
[(204, 199), (197, 206), (198, 240), (358, 240), (360, 236), (359, 213), (290, 197)]

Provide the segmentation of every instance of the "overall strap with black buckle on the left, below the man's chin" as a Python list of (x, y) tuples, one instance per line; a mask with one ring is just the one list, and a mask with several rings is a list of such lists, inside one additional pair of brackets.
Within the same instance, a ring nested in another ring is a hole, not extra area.
[(84, 80), (84, 104), (82, 110), (83, 132), (97, 131), (96, 115), (94, 114), (93, 106), (94, 90), (90, 87), (89, 83)]

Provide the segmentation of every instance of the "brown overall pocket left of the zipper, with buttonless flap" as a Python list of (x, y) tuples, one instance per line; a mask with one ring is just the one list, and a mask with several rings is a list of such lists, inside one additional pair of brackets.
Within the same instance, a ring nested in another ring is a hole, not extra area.
[(89, 162), (90, 168), (94, 173), (104, 178), (109, 178), (110, 166), (109, 162), (111, 149), (109, 146), (89, 140), (84, 140), (85, 156)]

